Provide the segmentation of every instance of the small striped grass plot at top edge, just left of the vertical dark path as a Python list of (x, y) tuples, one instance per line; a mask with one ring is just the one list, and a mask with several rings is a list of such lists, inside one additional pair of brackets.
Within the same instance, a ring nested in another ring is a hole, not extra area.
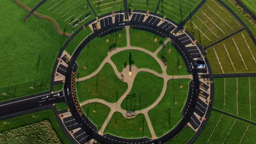
[(124, 1), (121, 0), (89, 0), (97, 15), (124, 10)]

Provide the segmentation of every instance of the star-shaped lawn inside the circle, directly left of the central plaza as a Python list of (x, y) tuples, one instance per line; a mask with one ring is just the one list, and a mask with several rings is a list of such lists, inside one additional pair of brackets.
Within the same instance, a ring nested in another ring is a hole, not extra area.
[(118, 79), (109, 63), (105, 64), (100, 73), (77, 85), (78, 100), (82, 103), (88, 99), (103, 99), (114, 103), (126, 91), (127, 83)]

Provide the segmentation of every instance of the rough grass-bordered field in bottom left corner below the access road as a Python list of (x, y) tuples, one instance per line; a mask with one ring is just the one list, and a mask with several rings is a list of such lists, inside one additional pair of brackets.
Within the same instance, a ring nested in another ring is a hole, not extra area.
[[(45, 120), (46, 122), (44, 122)], [(49, 122), (50, 122), (50, 125), (49, 125)], [(41, 123), (41, 124), (38, 125), (37, 123)], [(37, 127), (35, 128), (42, 128), (42, 129), (40, 130), (34, 129), (33, 127), (31, 127), (31, 124), (36, 125)], [(45, 125), (43, 126), (42, 124), (43, 125), (45, 124)], [(26, 132), (22, 132), (24, 130)], [(10, 134), (14, 133), (14, 134), (8, 137), (4, 137), (4, 136), (7, 136), (9, 133)], [(48, 135), (48, 133), (51, 133), (50, 136)], [(15, 134), (22, 134), (22, 135), (15, 136)], [(15, 140), (21, 140), (21, 141), (24, 141), (24, 143), (26, 143), (25, 142), (26, 140), (32, 141), (33, 139), (37, 139), (38, 141), (43, 142), (44, 139), (38, 139), (40, 136), (45, 137), (46, 140), (49, 139), (48, 137), (52, 137), (53, 139), (51, 140), (54, 140), (54, 139), (56, 140), (57, 137), (55, 135), (59, 137), (58, 139), (61, 141), (61, 143), (71, 144), (71, 141), (69, 141), (69, 139), (63, 133), (59, 123), (57, 122), (55, 114), (51, 109), (29, 113), (26, 115), (8, 118), (0, 121), (0, 140), (5, 139), (5, 140), (8, 140), (10, 143), (13, 143), (13, 142), (16, 143), (17, 141), (15, 142)], [(14, 139), (16, 137), (19, 137), (19, 139)]]

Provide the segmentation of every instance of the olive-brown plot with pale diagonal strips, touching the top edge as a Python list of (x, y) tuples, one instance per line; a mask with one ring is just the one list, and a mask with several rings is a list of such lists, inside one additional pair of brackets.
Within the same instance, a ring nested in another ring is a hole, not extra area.
[(209, 0), (185, 24), (202, 47), (242, 28), (242, 25), (217, 1)]

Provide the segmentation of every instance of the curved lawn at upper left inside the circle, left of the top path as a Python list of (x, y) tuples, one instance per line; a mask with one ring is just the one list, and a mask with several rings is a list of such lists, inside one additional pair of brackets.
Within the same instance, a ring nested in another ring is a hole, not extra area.
[[(120, 39), (119, 33), (122, 35)], [(106, 43), (107, 39), (109, 39), (108, 44)], [(79, 77), (89, 75), (97, 70), (107, 57), (109, 49), (112, 49), (112, 47), (125, 47), (126, 45), (125, 29), (91, 40), (77, 58)], [(84, 69), (84, 66), (86, 69)]]

